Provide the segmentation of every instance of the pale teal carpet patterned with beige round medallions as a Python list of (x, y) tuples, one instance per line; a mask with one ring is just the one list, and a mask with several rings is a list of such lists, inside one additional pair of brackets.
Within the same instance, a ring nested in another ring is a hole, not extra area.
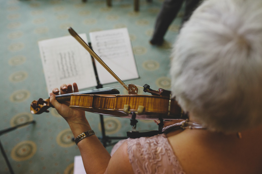
[[(74, 156), (80, 155), (71, 141), (69, 126), (54, 109), (41, 115), (30, 113), (29, 105), (34, 99), (49, 97), (37, 42), (69, 35), (69, 26), (87, 35), (91, 31), (127, 27), (140, 79), (125, 83), (169, 89), (170, 48), (181, 18), (170, 26), (162, 47), (151, 46), (149, 40), (161, 3), (141, 0), (140, 11), (134, 12), (130, 0), (113, 0), (111, 8), (105, 0), (0, 0), (0, 129), (36, 121), (0, 137), (16, 174), (73, 173)], [(86, 116), (96, 135), (101, 136), (99, 116)], [(129, 119), (105, 116), (104, 121), (108, 136), (126, 136), (131, 130)], [(138, 130), (157, 128), (152, 120), (137, 124)], [(111, 148), (107, 147), (109, 152)], [(2, 154), (0, 173), (10, 173)]]

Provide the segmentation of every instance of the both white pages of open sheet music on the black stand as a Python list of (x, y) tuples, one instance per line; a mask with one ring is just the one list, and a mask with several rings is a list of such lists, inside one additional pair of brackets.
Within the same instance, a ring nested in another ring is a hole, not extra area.
[[(79, 36), (88, 43), (86, 34)], [(126, 28), (92, 32), (90, 40), (96, 54), (121, 80), (139, 77)], [(91, 55), (75, 38), (69, 35), (42, 40), (38, 46), (49, 93), (63, 83), (76, 82), (80, 90), (97, 86)], [(98, 62), (96, 69), (101, 84), (116, 82)]]

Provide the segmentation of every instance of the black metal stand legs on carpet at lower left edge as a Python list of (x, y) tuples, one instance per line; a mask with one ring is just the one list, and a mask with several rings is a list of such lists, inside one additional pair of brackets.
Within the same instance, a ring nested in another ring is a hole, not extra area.
[[(26, 122), (26, 123), (19, 124), (19, 125), (16, 125), (16, 126), (14, 126), (14, 127), (10, 127), (10, 128), (1, 130), (1, 131), (0, 131), (0, 136), (1, 136), (2, 134), (5, 134), (5, 133), (7, 133), (7, 132), (10, 132), (10, 131), (13, 131), (13, 130), (17, 129), (18, 127), (22, 127), (22, 126), (25, 126), (25, 125), (31, 124), (31, 123), (36, 123), (36, 121), (35, 121), (35, 120), (33, 120), (33, 121), (28, 121), (28, 122)], [(6, 164), (7, 164), (7, 167), (8, 167), (8, 169), (9, 169), (10, 173), (11, 173), (11, 174), (14, 174), (13, 168), (12, 168), (12, 166), (11, 166), (11, 164), (10, 164), (7, 156), (6, 156), (6, 153), (5, 153), (5, 150), (4, 150), (3, 146), (2, 146), (1, 141), (0, 141), (0, 148), (1, 148), (1, 152), (2, 152), (2, 154), (3, 154), (3, 157), (4, 157), (5, 161), (6, 161)]]

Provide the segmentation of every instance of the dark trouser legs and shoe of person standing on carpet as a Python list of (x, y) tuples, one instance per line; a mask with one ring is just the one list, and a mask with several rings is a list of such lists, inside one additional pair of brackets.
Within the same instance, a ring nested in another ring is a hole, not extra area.
[[(151, 39), (152, 44), (162, 44), (164, 35), (167, 32), (171, 22), (177, 16), (184, 0), (165, 0), (162, 4), (160, 13), (157, 16), (155, 23), (155, 30)], [(187, 21), (192, 12), (196, 9), (197, 5), (201, 0), (185, 0), (185, 13), (182, 20), (182, 24)]]

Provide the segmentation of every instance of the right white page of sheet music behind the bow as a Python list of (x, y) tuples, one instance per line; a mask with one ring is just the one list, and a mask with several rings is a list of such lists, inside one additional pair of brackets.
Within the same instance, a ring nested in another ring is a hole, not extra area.
[[(139, 78), (127, 28), (91, 32), (89, 36), (95, 53), (122, 81)], [(100, 63), (95, 61), (95, 65), (102, 84), (116, 82)]]

